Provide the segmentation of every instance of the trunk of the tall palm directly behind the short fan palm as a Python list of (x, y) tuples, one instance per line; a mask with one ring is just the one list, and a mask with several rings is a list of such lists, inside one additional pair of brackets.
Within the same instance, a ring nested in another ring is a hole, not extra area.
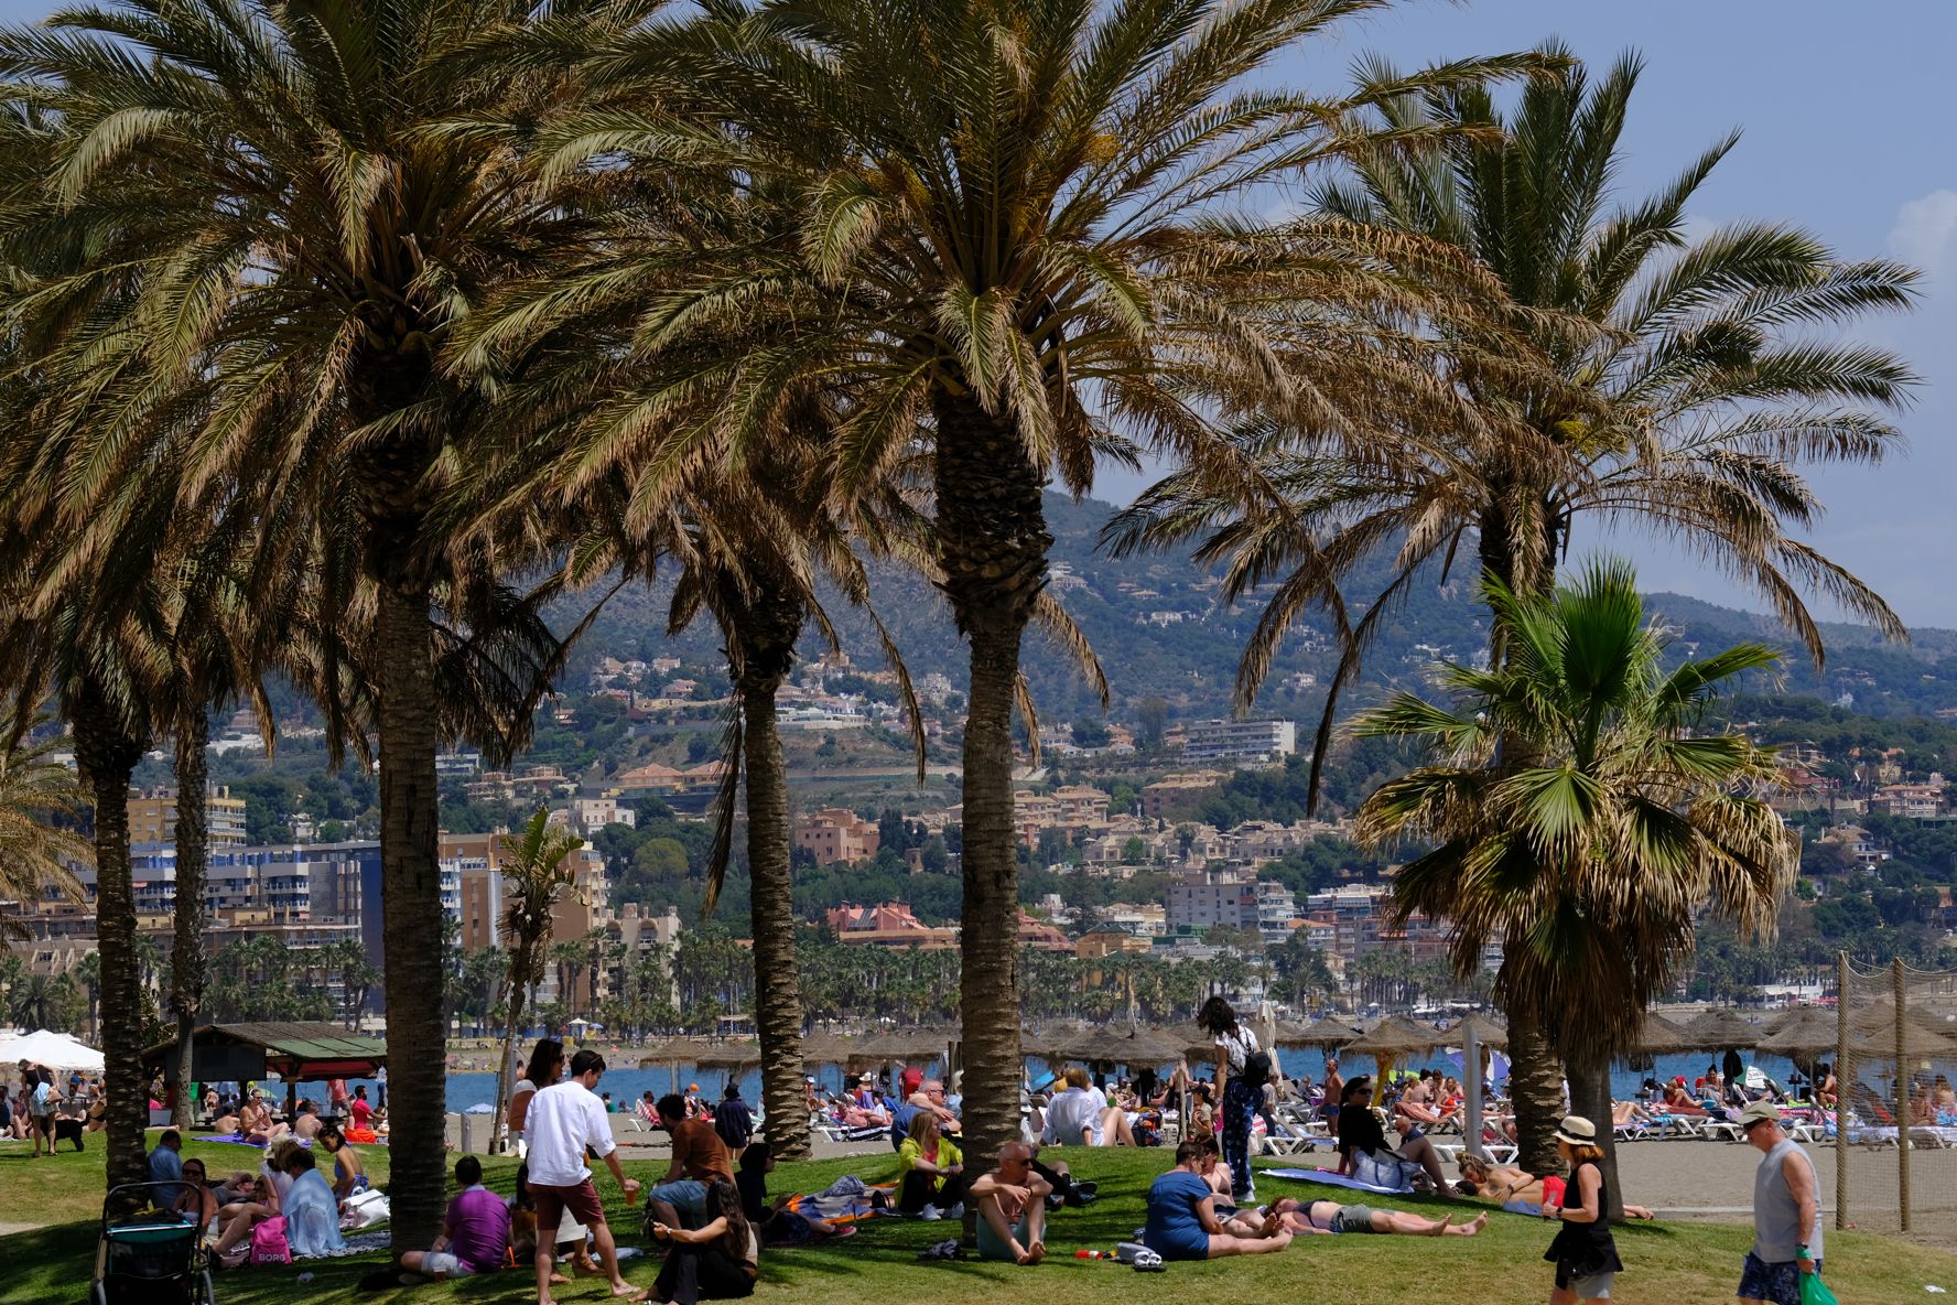
[[(1511, 591), (1548, 593), (1556, 583), (1556, 540), (1540, 538), (1534, 558), (1517, 558), (1519, 528), (1525, 528), (1495, 501), (1481, 517), (1481, 569), (1499, 579)], [(1489, 650), (1493, 663), (1503, 663), (1509, 650), (1501, 642), (1501, 632), (1493, 632), (1495, 644)], [(1505, 736), (1499, 743), (1499, 757), (1505, 769), (1530, 765), (1528, 747), (1523, 740)], [(1503, 953), (1517, 953), (1528, 947), (1526, 939), (1503, 939)], [(1525, 1002), (1509, 1000), (1509, 1098), (1515, 1105), (1515, 1145), (1517, 1164), (1530, 1174), (1550, 1174), (1562, 1166), (1556, 1154), (1556, 1125), (1564, 1113), (1562, 1057), (1550, 1043), (1542, 1023), (1542, 1012)], [(1609, 1109), (1605, 1117), (1609, 1119)]]

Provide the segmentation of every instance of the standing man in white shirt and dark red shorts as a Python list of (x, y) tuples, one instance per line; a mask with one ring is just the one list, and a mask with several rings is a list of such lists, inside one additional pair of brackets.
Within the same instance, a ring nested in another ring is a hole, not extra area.
[[(585, 1166), (585, 1148), (605, 1158), (605, 1166), (618, 1180), (626, 1197), (638, 1192), (638, 1180), (626, 1178), (618, 1166), (618, 1147), (611, 1137), (611, 1119), (605, 1103), (591, 1092), (605, 1074), (605, 1058), (595, 1051), (579, 1051), (571, 1057), (571, 1076), (550, 1084), (530, 1098), (530, 1111), (524, 1115), (523, 1131), (530, 1143), (530, 1195), (536, 1199), (536, 1227), (554, 1229), (569, 1209), (581, 1225), (591, 1229), (599, 1244), (599, 1264), (611, 1278), (613, 1295), (630, 1301), (644, 1301), (650, 1293), (634, 1291), (618, 1276), (618, 1246), (605, 1225), (605, 1205), (597, 1188), (591, 1186), (591, 1170)], [(536, 1305), (550, 1301), (550, 1238), (536, 1242)]]

